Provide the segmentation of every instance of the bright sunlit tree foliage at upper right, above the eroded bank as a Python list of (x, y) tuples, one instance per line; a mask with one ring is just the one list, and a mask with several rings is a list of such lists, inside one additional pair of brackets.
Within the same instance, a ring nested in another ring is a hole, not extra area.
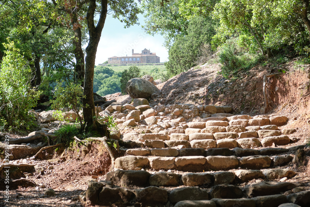
[(213, 11), (213, 17), (220, 22), (214, 45), (222, 44), (225, 36), (238, 34), (250, 52), (259, 50), (268, 58), (287, 44), (296, 43), (300, 47), (305, 27), (296, 12), (296, 1), (275, 0), (270, 4), (266, 0), (219, 1)]

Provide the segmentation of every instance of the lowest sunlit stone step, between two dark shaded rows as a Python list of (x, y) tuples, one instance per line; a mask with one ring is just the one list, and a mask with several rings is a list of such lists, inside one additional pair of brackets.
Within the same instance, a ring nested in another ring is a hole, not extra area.
[[(269, 150), (270, 149), (270, 150)], [(228, 169), (268, 169), (272, 166), (281, 166), (289, 163), (293, 157), (290, 155), (270, 157), (268, 151), (275, 152), (277, 148), (266, 148), (260, 151), (260, 155), (255, 155), (258, 151), (247, 149), (241, 157), (235, 155), (208, 155), (208, 151), (203, 149), (181, 149), (180, 151), (172, 149), (152, 149), (151, 155), (157, 156), (136, 156), (126, 155), (118, 157), (115, 160), (114, 167), (124, 170), (169, 170), (176, 169), (187, 172), (203, 172), (203, 171), (220, 171)], [(243, 149), (244, 150), (244, 149)], [(283, 152), (283, 148), (278, 148)], [(287, 149), (284, 149), (287, 151)], [(237, 149), (236, 151), (242, 151)], [(142, 151), (144, 152), (144, 151)], [(201, 153), (201, 155), (199, 155)], [(216, 154), (216, 153), (214, 153)], [(160, 156), (158, 156), (160, 155)], [(170, 156), (174, 155), (174, 156)]]

